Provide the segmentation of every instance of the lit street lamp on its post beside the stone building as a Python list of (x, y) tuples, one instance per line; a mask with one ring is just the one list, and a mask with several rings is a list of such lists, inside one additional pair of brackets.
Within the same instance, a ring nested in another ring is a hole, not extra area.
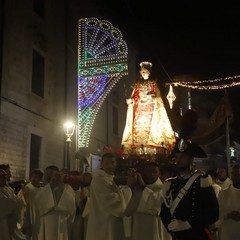
[(68, 121), (64, 124), (64, 131), (67, 136), (64, 165), (68, 170), (70, 170), (70, 162), (71, 162), (70, 148), (71, 148), (71, 142), (72, 142), (71, 137), (74, 134), (74, 130), (75, 130), (75, 124), (73, 122)]

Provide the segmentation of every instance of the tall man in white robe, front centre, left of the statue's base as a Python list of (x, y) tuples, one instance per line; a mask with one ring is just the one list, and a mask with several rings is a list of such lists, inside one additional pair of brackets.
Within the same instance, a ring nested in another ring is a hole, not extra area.
[(116, 158), (102, 156), (101, 169), (93, 172), (86, 240), (124, 240), (125, 191), (114, 182)]

